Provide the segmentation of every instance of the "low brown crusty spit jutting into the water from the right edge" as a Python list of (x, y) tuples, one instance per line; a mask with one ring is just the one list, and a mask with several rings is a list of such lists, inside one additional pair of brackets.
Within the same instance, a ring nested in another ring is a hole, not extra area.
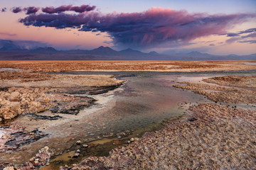
[(192, 90), (198, 94), (207, 96), (210, 100), (215, 102), (256, 103), (255, 76), (213, 77), (210, 79), (204, 79), (203, 81), (224, 86), (179, 82), (180, 84), (175, 87)]

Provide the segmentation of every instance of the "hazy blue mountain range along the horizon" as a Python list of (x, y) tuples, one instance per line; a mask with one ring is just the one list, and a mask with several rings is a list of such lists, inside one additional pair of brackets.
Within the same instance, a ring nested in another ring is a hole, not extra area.
[(252, 55), (210, 55), (197, 51), (177, 54), (140, 52), (128, 48), (116, 51), (110, 47), (93, 50), (55, 50), (53, 47), (36, 47), (28, 50), (9, 41), (0, 48), (0, 60), (256, 60)]

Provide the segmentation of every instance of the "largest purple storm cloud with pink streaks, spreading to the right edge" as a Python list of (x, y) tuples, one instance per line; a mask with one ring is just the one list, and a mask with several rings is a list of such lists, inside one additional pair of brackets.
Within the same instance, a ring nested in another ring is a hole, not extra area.
[(151, 8), (142, 13), (106, 15), (93, 11), (79, 14), (41, 13), (22, 18), (20, 22), (25, 26), (81, 27), (80, 31), (108, 33), (115, 45), (143, 48), (156, 45), (183, 45), (206, 35), (225, 35), (226, 29), (255, 16), (255, 13), (208, 15)]

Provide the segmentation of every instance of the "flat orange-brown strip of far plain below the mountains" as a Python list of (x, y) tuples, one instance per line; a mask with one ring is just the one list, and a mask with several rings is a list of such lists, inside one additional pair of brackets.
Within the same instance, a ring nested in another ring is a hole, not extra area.
[(33, 72), (203, 72), (255, 69), (255, 65), (246, 64), (250, 62), (255, 61), (0, 61), (0, 68), (26, 69)]

